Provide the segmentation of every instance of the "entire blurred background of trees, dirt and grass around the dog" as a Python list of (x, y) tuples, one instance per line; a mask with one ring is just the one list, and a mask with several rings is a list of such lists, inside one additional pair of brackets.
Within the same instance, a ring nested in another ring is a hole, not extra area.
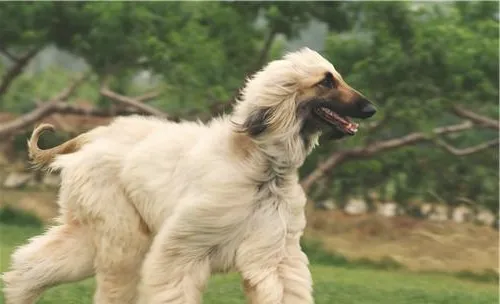
[[(207, 121), (304, 46), (379, 109), (300, 172), (317, 303), (497, 303), (499, 4), (483, 1), (2, 2), (0, 270), (57, 214), (58, 175), (28, 163), (36, 124), (56, 126), (50, 147), (116, 115)], [(91, 303), (79, 284), (42, 303)], [(206, 296), (242, 299), (234, 277)]]

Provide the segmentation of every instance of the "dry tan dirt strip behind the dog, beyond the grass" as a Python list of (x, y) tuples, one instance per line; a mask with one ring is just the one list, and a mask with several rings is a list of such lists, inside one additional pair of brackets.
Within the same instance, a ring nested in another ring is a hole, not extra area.
[[(50, 222), (57, 214), (56, 197), (53, 190), (0, 189), (0, 206), (9, 204)], [(491, 227), (339, 211), (309, 210), (307, 217), (306, 237), (348, 258), (389, 257), (416, 271), (498, 271), (499, 233)]]

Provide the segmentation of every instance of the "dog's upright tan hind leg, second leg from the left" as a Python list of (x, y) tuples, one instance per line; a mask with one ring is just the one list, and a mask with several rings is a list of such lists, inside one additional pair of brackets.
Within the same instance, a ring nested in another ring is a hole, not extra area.
[(115, 197), (96, 221), (95, 304), (135, 304), (141, 265), (151, 240), (150, 231), (124, 197)]

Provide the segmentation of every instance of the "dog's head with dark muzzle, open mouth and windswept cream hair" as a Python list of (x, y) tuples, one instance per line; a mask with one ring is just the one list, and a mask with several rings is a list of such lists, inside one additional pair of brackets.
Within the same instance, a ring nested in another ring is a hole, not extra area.
[(356, 134), (351, 118), (369, 118), (374, 105), (351, 88), (333, 65), (308, 48), (270, 62), (247, 82), (235, 114), (256, 138), (297, 132), (309, 141), (320, 133), (340, 139)]

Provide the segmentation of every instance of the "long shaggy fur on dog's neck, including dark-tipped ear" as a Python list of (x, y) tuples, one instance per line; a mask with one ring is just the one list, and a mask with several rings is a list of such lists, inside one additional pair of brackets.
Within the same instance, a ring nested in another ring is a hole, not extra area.
[[(304, 137), (295, 112), (296, 89), (269, 82), (269, 73), (264, 69), (249, 80), (229, 121), (233, 148), (239, 151), (244, 166), (251, 168), (250, 174), (255, 175), (252, 179), (272, 189), (282, 188), (288, 180), (298, 182), (298, 169), (318, 143), (318, 135)], [(254, 116), (256, 113), (259, 115)], [(245, 128), (252, 118), (262, 124), (257, 124), (260, 129), (255, 134)]]

